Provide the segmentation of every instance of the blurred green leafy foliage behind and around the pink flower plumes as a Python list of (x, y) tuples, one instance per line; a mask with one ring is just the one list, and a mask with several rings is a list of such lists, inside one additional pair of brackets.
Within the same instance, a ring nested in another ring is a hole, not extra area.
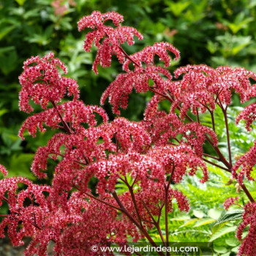
[[(53, 131), (49, 131), (38, 135), (37, 139), (27, 136), (26, 141), (17, 136), (27, 116), (18, 110), (18, 75), (22, 72), (23, 61), (53, 51), (67, 64), (68, 76), (78, 80), (81, 99), (94, 105), (99, 104), (102, 92), (121, 72), (116, 60), (108, 69), (99, 68), (98, 76), (91, 71), (95, 52), (83, 51), (85, 33), (78, 33), (77, 22), (93, 10), (120, 12), (126, 26), (135, 26), (144, 35), (143, 41), (132, 47), (124, 45), (128, 53), (157, 41), (176, 46), (181, 51), (181, 60), (174, 62), (171, 70), (178, 65), (208, 64), (240, 66), (256, 72), (255, 0), (65, 0), (63, 4), (66, 10), (56, 14), (52, 0), (0, 0), (0, 162), (10, 170), (10, 176), (34, 178), (30, 172), (34, 152), (53, 135)], [(150, 94), (132, 94), (129, 107), (122, 115), (139, 120), (149, 98)], [(113, 118), (110, 105), (104, 108)], [(252, 146), (255, 134), (248, 137), (242, 126), (233, 124), (238, 110), (235, 98), (229, 113), (231, 146), (234, 153), (241, 154)], [(207, 124), (209, 117), (204, 121)], [(219, 121), (217, 126), (220, 143), (225, 141), (222, 124), (223, 121)], [(224, 151), (225, 148), (223, 144)], [(190, 177), (176, 185), (189, 195), (192, 210), (185, 216), (173, 211), (170, 216), (173, 241), (214, 239), (211, 227), (223, 211), (222, 202), (228, 196), (236, 196), (236, 189), (235, 184), (225, 187), (228, 176), (217, 168), (210, 169), (208, 184), (198, 187), (197, 178)], [(252, 184), (249, 186), (256, 190)], [(237, 221), (233, 222), (237, 225)], [(219, 230), (216, 231), (216, 255), (235, 255), (238, 241), (234, 238), (233, 222), (223, 227), (221, 236), (217, 233)]]

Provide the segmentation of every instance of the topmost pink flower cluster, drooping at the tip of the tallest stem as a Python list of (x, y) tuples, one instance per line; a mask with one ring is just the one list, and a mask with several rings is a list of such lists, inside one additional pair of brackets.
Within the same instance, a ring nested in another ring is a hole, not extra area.
[[(112, 20), (115, 29), (111, 26), (104, 25), (105, 21)], [(78, 22), (78, 30), (82, 31), (86, 28), (94, 29), (86, 34), (83, 48), (90, 51), (92, 43), (97, 46), (97, 56), (94, 60), (92, 69), (97, 74), (97, 67), (100, 64), (102, 67), (110, 67), (111, 56), (116, 55), (118, 60), (124, 62), (124, 53), (121, 50), (121, 44), (127, 42), (128, 45), (133, 45), (134, 37), (143, 39), (136, 29), (129, 26), (121, 26), (124, 18), (117, 12), (100, 13), (99, 11), (92, 12), (91, 15), (81, 18)]]

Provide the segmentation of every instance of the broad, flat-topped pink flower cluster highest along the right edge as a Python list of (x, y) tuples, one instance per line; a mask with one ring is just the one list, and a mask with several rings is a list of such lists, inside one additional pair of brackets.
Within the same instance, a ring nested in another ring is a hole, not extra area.
[(256, 75), (241, 67), (213, 69), (206, 65), (188, 65), (176, 69), (174, 73), (176, 78), (184, 74), (182, 79), (173, 82), (169, 89), (176, 98), (172, 110), (182, 103), (182, 118), (189, 108), (196, 115), (197, 110), (202, 113), (206, 110), (213, 111), (216, 105), (227, 107), (231, 103), (233, 90), (240, 94), (241, 102), (255, 96), (252, 95), (255, 85), (252, 86), (249, 79), (256, 80)]

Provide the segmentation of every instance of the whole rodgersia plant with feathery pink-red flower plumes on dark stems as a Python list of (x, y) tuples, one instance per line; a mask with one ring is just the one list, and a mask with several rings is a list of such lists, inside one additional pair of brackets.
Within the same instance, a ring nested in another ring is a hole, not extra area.
[[(105, 25), (107, 20), (113, 26)], [(53, 53), (25, 61), (19, 78), (20, 110), (31, 113), (32, 101), (41, 106), (42, 112), (29, 116), (19, 135), (23, 138), (25, 130), (36, 136), (38, 129), (58, 129), (46, 146), (38, 148), (31, 170), (44, 178), (48, 159), (56, 160), (57, 165), (50, 186), (33, 184), (22, 177), (0, 181), (0, 199), (9, 206), (8, 214), (2, 216), (1, 237), (7, 227), (14, 246), (23, 244), (24, 237), (31, 238), (25, 255), (47, 255), (49, 241), (54, 242), (56, 255), (100, 255), (91, 252), (91, 245), (125, 244), (143, 238), (154, 246), (148, 233), (152, 228), (157, 228), (162, 242), (168, 245), (167, 214), (173, 211), (173, 199), (181, 211), (189, 211), (187, 197), (172, 184), (197, 172), (203, 174), (200, 182), (207, 181), (208, 162), (232, 173), (244, 190), (248, 203), (241, 206), (244, 219), (236, 234), (242, 242), (238, 255), (255, 255), (256, 206), (244, 179), (254, 180), (251, 173), (256, 144), (233, 165), (227, 124), (233, 91), (240, 95), (241, 102), (256, 96), (256, 86), (251, 84), (256, 80), (255, 73), (243, 68), (188, 65), (176, 69), (173, 79), (167, 68), (170, 55), (178, 59), (179, 51), (168, 42), (157, 42), (128, 55), (122, 45), (132, 45), (135, 37), (143, 36), (134, 28), (121, 26), (122, 22), (117, 12), (93, 12), (80, 19), (78, 30), (91, 29), (83, 47), (86, 51), (91, 45), (98, 48), (95, 73), (99, 65), (110, 67), (112, 56), (124, 70), (105, 90), (101, 104), (108, 98), (113, 113), (120, 115), (119, 108), (127, 108), (132, 89), (151, 91), (153, 96), (143, 120), (117, 116), (108, 121), (103, 108), (85, 105), (79, 99), (78, 84), (61, 75), (67, 73), (67, 68)], [(150, 86), (149, 80), (154, 85)], [(171, 103), (170, 111), (159, 110), (162, 101)], [(227, 159), (218, 146), (214, 121), (217, 108), (222, 110), (226, 126)], [(200, 115), (206, 112), (211, 115), (211, 127), (200, 123)], [(236, 121), (245, 119), (249, 130), (255, 113), (256, 105), (252, 103)], [(215, 154), (204, 152), (206, 141)], [(3, 166), (0, 170), (7, 175)], [(91, 178), (97, 179), (96, 192), (89, 186)], [(125, 192), (116, 192), (119, 183), (126, 185)], [(23, 189), (19, 184), (24, 185)], [(225, 208), (237, 200), (229, 198)], [(159, 223), (162, 215), (165, 233)], [(247, 226), (249, 232), (242, 238)]]

